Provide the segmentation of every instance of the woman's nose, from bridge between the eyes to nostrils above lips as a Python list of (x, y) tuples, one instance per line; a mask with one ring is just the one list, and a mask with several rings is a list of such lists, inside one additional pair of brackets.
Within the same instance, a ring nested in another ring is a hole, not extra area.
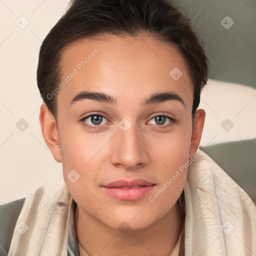
[(135, 124), (126, 131), (118, 127), (112, 140), (112, 164), (124, 169), (136, 169), (149, 162), (148, 148), (145, 138)]

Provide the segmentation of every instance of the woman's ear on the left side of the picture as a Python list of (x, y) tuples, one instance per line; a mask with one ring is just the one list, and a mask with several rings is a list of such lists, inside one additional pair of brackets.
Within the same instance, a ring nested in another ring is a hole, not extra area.
[(61, 162), (56, 121), (45, 103), (41, 104), (39, 120), (45, 143), (52, 152), (54, 159)]

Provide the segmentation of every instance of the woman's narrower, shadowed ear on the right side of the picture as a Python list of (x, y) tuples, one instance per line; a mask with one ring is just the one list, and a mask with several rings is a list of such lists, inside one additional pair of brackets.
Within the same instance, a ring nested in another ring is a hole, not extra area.
[(192, 135), (189, 148), (189, 157), (191, 157), (199, 147), (201, 140), (202, 129), (205, 119), (205, 111), (203, 109), (198, 109), (194, 114)]

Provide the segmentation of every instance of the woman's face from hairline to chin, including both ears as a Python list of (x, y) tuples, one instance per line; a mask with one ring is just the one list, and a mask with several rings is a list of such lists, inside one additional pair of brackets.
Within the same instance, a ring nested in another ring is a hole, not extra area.
[(193, 86), (184, 58), (175, 45), (151, 37), (111, 35), (68, 45), (61, 63), (62, 86), (53, 92), (57, 128), (45, 106), (40, 121), (68, 190), (85, 216), (109, 227), (149, 226), (180, 196), (187, 170), (175, 173), (201, 136), (200, 112), (192, 130)]

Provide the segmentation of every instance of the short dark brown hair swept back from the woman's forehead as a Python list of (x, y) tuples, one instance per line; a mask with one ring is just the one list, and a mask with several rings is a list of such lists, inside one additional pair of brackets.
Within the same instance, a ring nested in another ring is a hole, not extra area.
[(55, 119), (56, 99), (47, 95), (60, 82), (61, 50), (80, 38), (140, 33), (179, 47), (194, 86), (194, 114), (207, 81), (207, 58), (189, 21), (179, 10), (167, 0), (71, 0), (65, 14), (43, 40), (37, 66), (37, 86)]

